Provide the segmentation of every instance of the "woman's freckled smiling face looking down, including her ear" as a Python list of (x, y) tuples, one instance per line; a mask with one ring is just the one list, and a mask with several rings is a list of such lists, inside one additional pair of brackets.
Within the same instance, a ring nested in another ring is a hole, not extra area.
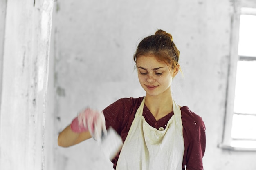
[(178, 68), (169, 70), (164, 62), (159, 62), (154, 55), (137, 58), (139, 82), (147, 95), (158, 96), (171, 92), (171, 82), (178, 73)]

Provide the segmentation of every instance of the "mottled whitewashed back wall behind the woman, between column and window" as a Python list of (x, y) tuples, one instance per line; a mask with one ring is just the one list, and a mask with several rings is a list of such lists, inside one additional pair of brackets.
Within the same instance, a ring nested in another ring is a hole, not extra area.
[[(50, 60), (55, 139), (86, 106), (102, 110), (121, 97), (145, 95), (132, 55), (142, 38), (163, 29), (173, 35), (184, 72), (173, 81), (173, 95), (207, 127), (205, 169), (255, 169), (255, 152), (217, 147), (225, 117), (232, 5), (230, 0), (55, 2)], [(112, 169), (92, 139), (54, 148), (57, 169)]]

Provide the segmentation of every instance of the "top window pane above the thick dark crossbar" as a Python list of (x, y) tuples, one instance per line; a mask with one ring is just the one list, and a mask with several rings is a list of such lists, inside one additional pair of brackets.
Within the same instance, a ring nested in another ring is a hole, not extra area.
[(238, 55), (256, 56), (255, 15), (240, 15)]

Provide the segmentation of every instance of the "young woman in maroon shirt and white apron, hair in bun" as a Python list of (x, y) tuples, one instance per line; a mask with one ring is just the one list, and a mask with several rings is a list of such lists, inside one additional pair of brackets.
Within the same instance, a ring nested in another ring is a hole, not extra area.
[(203, 170), (204, 122), (187, 106), (177, 105), (171, 94), (179, 54), (165, 31), (144, 38), (134, 61), (146, 96), (119, 99), (100, 113), (84, 110), (59, 134), (58, 145), (72, 146), (90, 137), (100, 140), (101, 132), (111, 126), (124, 141), (112, 159), (114, 169)]

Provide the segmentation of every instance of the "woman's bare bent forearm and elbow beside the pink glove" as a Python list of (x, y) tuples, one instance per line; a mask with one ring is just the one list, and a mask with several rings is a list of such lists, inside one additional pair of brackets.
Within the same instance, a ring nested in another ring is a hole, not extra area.
[(71, 130), (69, 125), (58, 135), (58, 146), (69, 147), (91, 137), (89, 131), (75, 133)]

